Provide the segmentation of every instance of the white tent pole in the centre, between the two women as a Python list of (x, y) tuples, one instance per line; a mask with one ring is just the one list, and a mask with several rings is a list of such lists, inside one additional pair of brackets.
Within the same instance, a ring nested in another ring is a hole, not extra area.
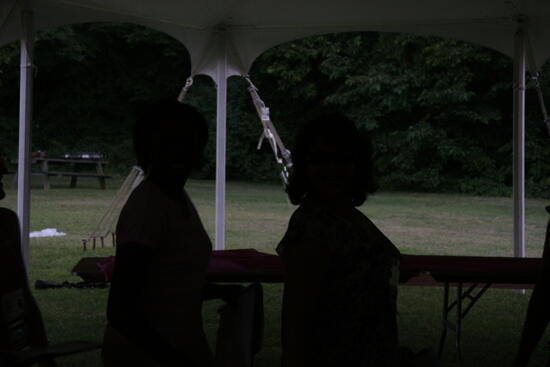
[(227, 52), (225, 31), (219, 31), (216, 75), (216, 250), (225, 248), (225, 165), (227, 128)]

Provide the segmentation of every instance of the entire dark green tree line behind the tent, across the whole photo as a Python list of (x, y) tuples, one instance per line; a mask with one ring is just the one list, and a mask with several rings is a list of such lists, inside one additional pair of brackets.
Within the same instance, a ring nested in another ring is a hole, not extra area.
[[(100, 151), (125, 172), (140, 102), (175, 98), (189, 75), (181, 44), (133, 25), (87, 24), (38, 35), (33, 149)], [(0, 144), (14, 154), (17, 45), (0, 49)], [(543, 89), (550, 101), (548, 64)], [(403, 34), (310, 37), (267, 51), (251, 76), (285, 143), (323, 109), (368, 130), (383, 189), (508, 194), (512, 180), (512, 65), (473, 44)], [(211, 123), (202, 177), (215, 171), (215, 86), (197, 77), (187, 102)], [(527, 189), (550, 196), (550, 141), (536, 96), (527, 95)], [(276, 180), (267, 144), (240, 78), (228, 92), (228, 177)]]

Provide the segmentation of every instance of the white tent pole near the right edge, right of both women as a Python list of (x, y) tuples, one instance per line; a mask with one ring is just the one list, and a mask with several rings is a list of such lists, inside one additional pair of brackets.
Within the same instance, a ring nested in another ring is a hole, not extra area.
[(514, 256), (525, 256), (525, 33), (514, 37)]

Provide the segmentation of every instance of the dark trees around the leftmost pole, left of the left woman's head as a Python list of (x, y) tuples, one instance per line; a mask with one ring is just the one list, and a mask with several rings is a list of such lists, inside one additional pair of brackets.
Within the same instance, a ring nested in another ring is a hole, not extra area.
[[(11, 91), (17, 90), (19, 48), (12, 43), (3, 50), (9, 61), (2, 74), (9, 88), (0, 91), (0, 108), (13, 137), (18, 111)], [(116, 167), (124, 170), (133, 164), (136, 105), (151, 98), (173, 98), (190, 73), (188, 52), (179, 41), (124, 23), (40, 31), (34, 61), (32, 150), (59, 156), (94, 146), (111, 161), (124, 162)], [(11, 156), (17, 150), (15, 141), (5, 139), (4, 150)]]

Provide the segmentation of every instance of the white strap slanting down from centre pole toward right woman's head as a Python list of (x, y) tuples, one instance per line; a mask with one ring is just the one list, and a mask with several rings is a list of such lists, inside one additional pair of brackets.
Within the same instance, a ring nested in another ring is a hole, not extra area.
[(244, 80), (248, 83), (248, 92), (252, 97), (252, 102), (254, 107), (256, 107), (256, 112), (264, 128), (260, 140), (258, 141), (258, 149), (261, 149), (264, 140), (267, 140), (275, 156), (275, 161), (280, 164), (283, 169), (281, 171), (281, 179), (286, 188), (288, 186), (288, 179), (290, 175), (290, 169), (292, 168), (292, 156), (290, 150), (288, 150), (281, 137), (275, 129), (275, 125), (269, 117), (269, 108), (265, 105), (264, 101), (260, 98), (258, 94), (258, 88), (252, 83), (248, 75), (243, 76)]

